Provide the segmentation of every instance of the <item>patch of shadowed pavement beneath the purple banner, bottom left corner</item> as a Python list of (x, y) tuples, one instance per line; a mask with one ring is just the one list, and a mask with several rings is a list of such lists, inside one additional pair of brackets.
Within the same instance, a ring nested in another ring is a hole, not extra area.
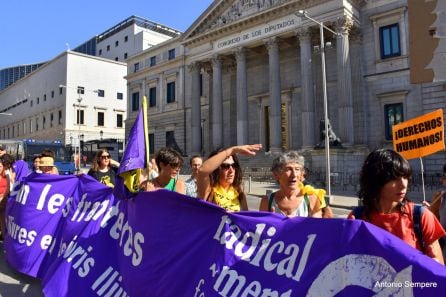
[(8, 265), (3, 251), (3, 242), (0, 242), (0, 296), (44, 296), (38, 279), (17, 272)]

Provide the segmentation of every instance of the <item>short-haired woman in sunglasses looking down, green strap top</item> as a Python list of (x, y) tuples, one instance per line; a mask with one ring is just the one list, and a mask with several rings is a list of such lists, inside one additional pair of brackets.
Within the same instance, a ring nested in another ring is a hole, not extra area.
[(146, 191), (166, 189), (180, 194), (186, 194), (186, 185), (182, 179), (178, 178), (183, 157), (176, 150), (166, 147), (162, 148), (155, 155), (158, 176), (143, 183)]

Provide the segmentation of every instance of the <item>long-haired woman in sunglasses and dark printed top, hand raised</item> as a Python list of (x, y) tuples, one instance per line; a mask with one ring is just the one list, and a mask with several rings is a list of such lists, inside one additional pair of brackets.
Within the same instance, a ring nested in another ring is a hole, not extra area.
[(88, 175), (100, 183), (113, 188), (116, 179), (114, 167), (119, 167), (119, 163), (110, 158), (110, 153), (106, 149), (101, 149), (96, 153)]

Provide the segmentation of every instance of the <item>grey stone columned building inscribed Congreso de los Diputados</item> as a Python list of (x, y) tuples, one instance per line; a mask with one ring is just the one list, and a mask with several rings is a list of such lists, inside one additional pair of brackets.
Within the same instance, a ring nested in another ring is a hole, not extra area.
[[(181, 36), (128, 60), (127, 133), (145, 95), (151, 152), (262, 143), (265, 152), (300, 150), (324, 171), (326, 79), (342, 142), (332, 170), (356, 173), (370, 150), (392, 147), (393, 124), (446, 107), (445, 95), (432, 93), (443, 83), (411, 83), (408, 2), (214, 1)], [(323, 47), (320, 26), (300, 10), (331, 29)], [(426, 162), (438, 171), (444, 154)]]

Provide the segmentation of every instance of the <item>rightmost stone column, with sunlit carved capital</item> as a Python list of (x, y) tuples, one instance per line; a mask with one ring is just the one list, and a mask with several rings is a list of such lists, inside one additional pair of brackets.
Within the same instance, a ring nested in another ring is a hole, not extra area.
[(350, 66), (349, 30), (353, 25), (352, 20), (343, 18), (336, 24), (337, 32), (340, 33), (336, 40), (337, 55), (337, 97), (338, 97), (338, 131), (344, 145), (353, 145), (353, 96), (352, 77)]

